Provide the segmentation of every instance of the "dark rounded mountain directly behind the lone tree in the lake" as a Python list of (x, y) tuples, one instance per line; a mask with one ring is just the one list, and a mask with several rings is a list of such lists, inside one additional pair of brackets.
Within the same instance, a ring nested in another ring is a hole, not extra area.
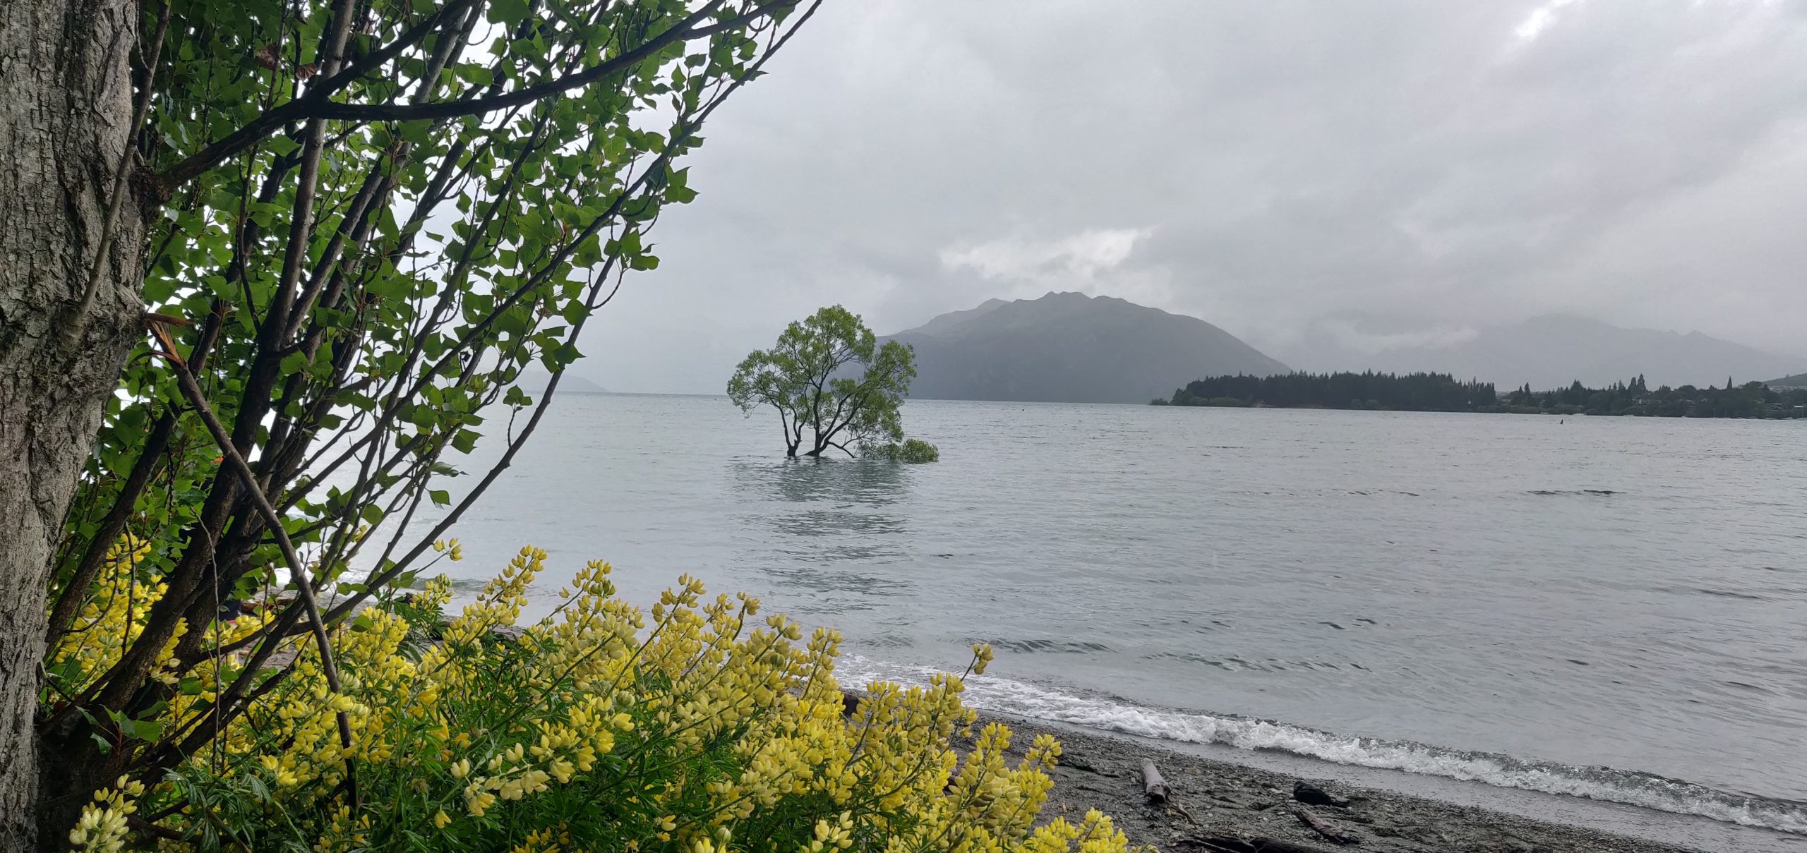
[(1111, 296), (987, 300), (891, 336), (916, 347), (913, 398), (1147, 403), (1216, 374), (1287, 365), (1203, 320)]

